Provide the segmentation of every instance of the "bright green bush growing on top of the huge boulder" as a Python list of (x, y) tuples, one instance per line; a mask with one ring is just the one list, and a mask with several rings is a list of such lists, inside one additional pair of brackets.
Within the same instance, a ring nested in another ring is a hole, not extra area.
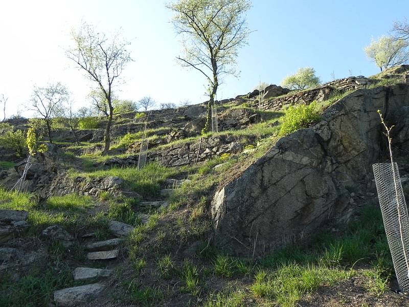
[(298, 105), (288, 107), (280, 127), (280, 136), (292, 133), (300, 128), (308, 127), (312, 122), (320, 119), (315, 111), (316, 102), (309, 105)]

